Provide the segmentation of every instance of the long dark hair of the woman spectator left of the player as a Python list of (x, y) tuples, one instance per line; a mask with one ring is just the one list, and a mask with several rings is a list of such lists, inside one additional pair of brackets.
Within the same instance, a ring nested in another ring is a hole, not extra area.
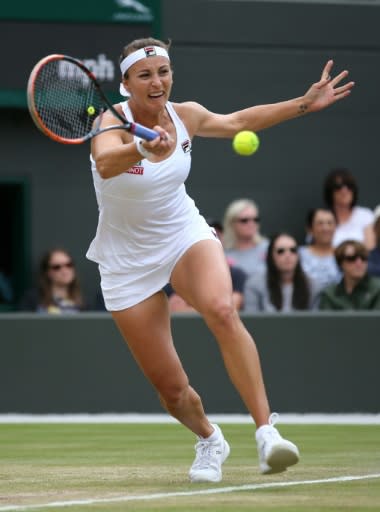
[[(45, 252), (40, 260), (39, 266), (39, 279), (38, 279), (38, 290), (40, 295), (40, 302), (42, 306), (48, 307), (53, 304), (53, 293), (51, 280), (49, 278), (49, 266), (50, 260), (56, 252), (62, 252), (73, 261), (70, 254), (61, 247), (54, 247)], [(69, 298), (79, 307), (83, 307), (83, 297), (78, 276), (74, 273), (74, 279), (68, 285), (68, 296)]]

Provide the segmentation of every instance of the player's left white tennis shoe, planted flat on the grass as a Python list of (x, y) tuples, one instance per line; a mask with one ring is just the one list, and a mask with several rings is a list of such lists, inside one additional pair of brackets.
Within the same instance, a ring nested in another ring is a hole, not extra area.
[(218, 425), (213, 425), (219, 437), (216, 441), (198, 438), (195, 445), (195, 459), (190, 468), (191, 482), (220, 482), (222, 480), (222, 464), (230, 454), (230, 446), (224, 439)]

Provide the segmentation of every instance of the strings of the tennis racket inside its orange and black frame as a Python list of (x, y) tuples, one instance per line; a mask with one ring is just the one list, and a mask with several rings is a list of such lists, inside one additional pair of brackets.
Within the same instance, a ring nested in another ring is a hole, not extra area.
[(34, 106), (40, 121), (59, 137), (86, 138), (102, 105), (97, 87), (75, 63), (54, 60), (39, 70)]

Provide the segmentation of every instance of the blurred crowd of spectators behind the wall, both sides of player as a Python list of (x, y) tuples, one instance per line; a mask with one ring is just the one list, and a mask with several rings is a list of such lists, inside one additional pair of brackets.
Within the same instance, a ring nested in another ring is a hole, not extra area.
[[(305, 239), (290, 232), (265, 236), (252, 198), (237, 198), (221, 221), (207, 219), (223, 245), (238, 311), (286, 313), (380, 309), (380, 205), (358, 205), (359, 187), (350, 171), (333, 169), (325, 178), (325, 204), (306, 214)], [(283, 221), (282, 221), (283, 224)], [(163, 290), (172, 313), (196, 313), (168, 283)], [(11, 281), (0, 272), (0, 304), (11, 304)], [(36, 282), (17, 310), (79, 313), (105, 310), (100, 289), (96, 306), (86, 305), (74, 259), (54, 247), (39, 262)]]

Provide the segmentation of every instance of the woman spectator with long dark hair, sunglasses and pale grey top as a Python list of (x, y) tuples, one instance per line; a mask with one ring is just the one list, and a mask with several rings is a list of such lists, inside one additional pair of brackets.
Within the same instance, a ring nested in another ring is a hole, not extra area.
[(314, 309), (317, 297), (317, 286), (302, 270), (295, 238), (288, 233), (273, 236), (266, 268), (247, 279), (244, 312)]

